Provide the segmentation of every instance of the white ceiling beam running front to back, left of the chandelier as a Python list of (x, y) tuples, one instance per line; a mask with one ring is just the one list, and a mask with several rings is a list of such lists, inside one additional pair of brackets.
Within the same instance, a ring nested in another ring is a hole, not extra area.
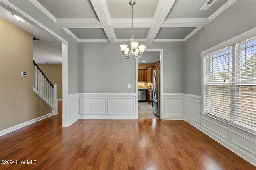
[(108, 25), (108, 22), (110, 21), (110, 14), (106, 0), (91, 0), (91, 3), (109, 42), (114, 43), (116, 41), (116, 35), (114, 29)]

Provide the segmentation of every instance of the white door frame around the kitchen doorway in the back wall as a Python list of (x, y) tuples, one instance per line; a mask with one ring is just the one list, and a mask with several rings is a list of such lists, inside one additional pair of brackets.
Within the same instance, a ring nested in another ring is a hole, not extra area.
[[(164, 104), (162, 103), (164, 101), (164, 93), (163, 93), (163, 78), (164, 78), (164, 63), (163, 63), (163, 49), (145, 49), (145, 51), (148, 52), (160, 52), (160, 119), (163, 119), (162, 111), (164, 110)], [(136, 119), (138, 119), (138, 58), (136, 58)]]

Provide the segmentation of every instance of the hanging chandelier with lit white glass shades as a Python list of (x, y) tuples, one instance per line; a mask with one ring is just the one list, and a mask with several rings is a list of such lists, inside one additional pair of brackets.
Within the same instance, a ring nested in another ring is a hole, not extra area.
[[(128, 59), (131, 54), (133, 55), (134, 59), (136, 59), (137, 57), (141, 57), (142, 54), (145, 51), (146, 46), (145, 45), (139, 45), (138, 42), (134, 41), (134, 37), (133, 37), (133, 6), (136, 4), (135, 1), (131, 1), (129, 2), (129, 4), (132, 6), (132, 38), (131, 38), (131, 50), (129, 48), (127, 48), (128, 45), (126, 44), (122, 44), (120, 45), (121, 47), (121, 51), (123, 53), (123, 55), (125, 56), (126, 59)], [(130, 50), (130, 53), (129, 53)], [(140, 52), (140, 55), (139, 55)]]

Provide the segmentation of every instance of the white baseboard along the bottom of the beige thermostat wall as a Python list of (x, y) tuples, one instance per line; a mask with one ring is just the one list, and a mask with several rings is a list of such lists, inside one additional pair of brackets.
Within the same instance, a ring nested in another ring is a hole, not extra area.
[(35, 122), (40, 121), (40, 120), (42, 120), (42, 119), (45, 119), (46, 117), (50, 117), (50, 116), (52, 116), (52, 115), (53, 115), (53, 113), (48, 113), (47, 115), (43, 115), (43, 116), (41, 116), (41, 117), (37, 117), (36, 119), (32, 119), (32, 120), (30, 120), (30, 121), (26, 121), (26, 122), (24, 122), (24, 123), (20, 123), (20, 124), (18, 124), (18, 125), (13, 126), (13, 127), (9, 127), (9, 128), (7, 128), (7, 129), (4, 129), (4, 130), (0, 131), (0, 136), (5, 135), (5, 134), (7, 134), (7, 133), (10, 133), (10, 132), (12, 132), (12, 131), (16, 131), (16, 130), (22, 128), (22, 127), (25, 127), (25, 126), (27, 126), (27, 125), (30, 125), (30, 124), (32, 124), (32, 123), (35, 123)]

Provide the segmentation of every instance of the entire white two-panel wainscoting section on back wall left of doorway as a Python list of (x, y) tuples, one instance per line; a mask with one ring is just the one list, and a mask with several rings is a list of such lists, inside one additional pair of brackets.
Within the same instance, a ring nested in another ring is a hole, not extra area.
[(135, 93), (80, 93), (80, 119), (136, 119)]

